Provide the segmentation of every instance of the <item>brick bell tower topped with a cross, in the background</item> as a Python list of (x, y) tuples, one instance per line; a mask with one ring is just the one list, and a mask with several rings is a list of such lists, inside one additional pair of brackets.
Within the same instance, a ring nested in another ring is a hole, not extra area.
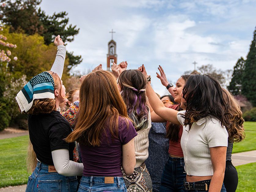
[(110, 31), (111, 40), (108, 42), (108, 54), (107, 54), (107, 70), (110, 71), (112, 64), (117, 63), (117, 54), (116, 54), (116, 42), (113, 40), (113, 33), (115, 31)]

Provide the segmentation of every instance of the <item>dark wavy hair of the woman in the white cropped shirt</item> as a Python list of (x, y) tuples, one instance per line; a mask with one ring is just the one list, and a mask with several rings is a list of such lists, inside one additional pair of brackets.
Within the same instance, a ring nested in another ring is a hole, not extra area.
[(217, 118), (222, 127), (229, 127), (232, 114), (229, 113), (229, 98), (225, 94), (218, 81), (211, 76), (191, 75), (183, 87), (183, 98), (186, 100), (184, 125), (210, 116)]

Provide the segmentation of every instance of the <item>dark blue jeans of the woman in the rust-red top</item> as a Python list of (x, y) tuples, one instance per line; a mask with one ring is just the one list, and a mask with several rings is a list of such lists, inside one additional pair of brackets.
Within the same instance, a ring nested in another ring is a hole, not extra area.
[(186, 190), (183, 188), (185, 177), (184, 158), (172, 158), (169, 156), (163, 168), (160, 192), (185, 192)]

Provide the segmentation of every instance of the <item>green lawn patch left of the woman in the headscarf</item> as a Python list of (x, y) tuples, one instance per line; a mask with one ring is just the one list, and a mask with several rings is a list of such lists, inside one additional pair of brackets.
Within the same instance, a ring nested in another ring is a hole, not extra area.
[(0, 187), (27, 183), (28, 136), (0, 140)]

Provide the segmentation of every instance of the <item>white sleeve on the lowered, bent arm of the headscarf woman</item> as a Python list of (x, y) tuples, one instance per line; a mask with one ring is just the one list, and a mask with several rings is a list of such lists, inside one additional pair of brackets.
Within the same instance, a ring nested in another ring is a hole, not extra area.
[(83, 173), (83, 164), (69, 160), (68, 149), (52, 151), (53, 164), (56, 171), (64, 176), (77, 176)]

